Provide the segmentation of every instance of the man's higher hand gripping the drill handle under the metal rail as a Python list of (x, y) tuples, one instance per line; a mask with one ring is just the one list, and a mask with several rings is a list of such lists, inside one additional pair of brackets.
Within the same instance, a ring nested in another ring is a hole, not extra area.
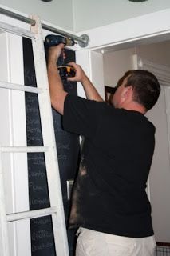
[[(57, 59), (63, 53), (64, 44), (60, 43), (58, 46), (49, 47), (48, 62), (57, 63)], [(65, 54), (63, 56), (65, 58)]]

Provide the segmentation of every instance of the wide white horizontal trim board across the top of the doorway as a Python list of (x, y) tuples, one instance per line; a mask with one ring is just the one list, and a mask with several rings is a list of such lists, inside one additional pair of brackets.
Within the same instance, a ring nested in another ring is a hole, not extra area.
[[(100, 26), (92, 30), (81, 31), (79, 34), (89, 35), (89, 46), (94, 50), (102, 47), (134, 46), (134, 42), (144, 42), (144, 39), (158, 35), (168, 37), (170, 33), (170, 9), (160, 10), (152, 14), (145, 14), (121, 22)], [(142, 41), (141, 41), (142, 40)], [(135, 44), (136, 45), (136, 44)], [(116, 49), (116, 48), (115, 48)]]

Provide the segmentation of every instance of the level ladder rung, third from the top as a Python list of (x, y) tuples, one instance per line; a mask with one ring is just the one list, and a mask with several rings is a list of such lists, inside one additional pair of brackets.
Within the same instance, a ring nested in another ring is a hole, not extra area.
[(0, 146), (0, 152), (3, 153), (35, 153), (46, 152), (49, 146)]

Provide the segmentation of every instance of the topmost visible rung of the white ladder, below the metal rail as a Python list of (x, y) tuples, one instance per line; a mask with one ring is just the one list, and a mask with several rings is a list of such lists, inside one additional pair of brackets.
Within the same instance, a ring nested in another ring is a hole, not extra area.
[(16, 26), (9, 25), (4, 22), (0, 22), (0, 30), (10, 32), (12, 34), (17, 34), (25, 38), (35, 38), (34, 34), (31, 33), (30, 31), (24, 30)]

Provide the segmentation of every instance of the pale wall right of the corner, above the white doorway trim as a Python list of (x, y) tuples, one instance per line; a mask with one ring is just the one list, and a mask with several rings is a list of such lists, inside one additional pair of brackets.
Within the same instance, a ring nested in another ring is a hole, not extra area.
[(89, 30), (169, 7), (169, 0), (140, 3), (128, 0), (73, 0), (74, 30)]

